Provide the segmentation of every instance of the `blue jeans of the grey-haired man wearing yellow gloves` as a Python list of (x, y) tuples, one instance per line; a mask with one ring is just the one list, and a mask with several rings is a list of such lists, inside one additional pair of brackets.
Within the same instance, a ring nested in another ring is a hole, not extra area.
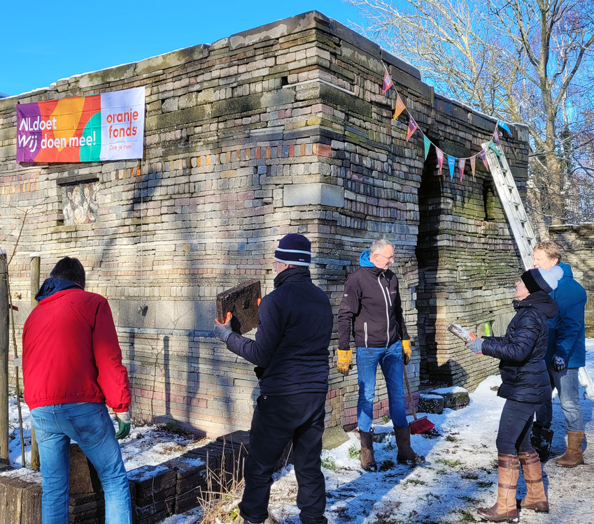
[(377, 365), (380, 365), (388, 389), (390, 419), (395, 428), (406, 428), (404, 385), (402, 376), (402, 342), (390, 347), (358, 347), (357, 372), (359, 375), (359, 400), (357, 419), (360, 431), (368, 432), (374, 421)]

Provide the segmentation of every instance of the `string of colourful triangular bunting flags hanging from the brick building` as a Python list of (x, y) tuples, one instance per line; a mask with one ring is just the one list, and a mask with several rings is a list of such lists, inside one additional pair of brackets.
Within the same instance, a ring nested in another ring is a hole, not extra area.
[[(386, 67), (386, 64), (383, 64), (383, 67), (386, 69), (386, 72), (383, 75), (383, 83), (382, 83), (382, 91), (381, 92), (382, 92), (382, 94), (385, 94), (388, 91), (388, 89), (390, 89), (390, 87), (394, 87), (394, 82), (392, 81), (392, 78), (390, 77), (390, 73), (388, 73), (388, 68)], [(395, 103), (395, 108), (394, 108), (393, 119), (396, 120), (400, 115), (402, 115), (403, 112), (406, 112), (406, 114), (409, 117), (408, 129), (406, 131), (406, 142), (409, 142), (409, 140), (412, 138), (413, 134), (416, 133), (417, 130), (420, 131), (421, 135), (423, 136), (423, 147), (425, 150), (425, 160), (427, 159), (427, 157), (429, 155), (431, 146), (433, 146), (435, 148), (435, 152), (437, 153), (437, 168), (439, 169), (439, 174), (441, 175), (441, 169), (444, 166), (444, 152), (441, 151), (439, 149), (439, 147), (437, 147), (437, 145), (432, 143), (430, 138), (428, 138), (425, 135), (425, 133), (423, 133), (423, 130), (419, 128), (416, 120), (413, 118), (413, 115), (411, 115), (411, 112), (408, 110), (408, 108), (406, 108), (406, 105), (404, 105), (404, 102), (402, 101), (402, 97), (400, 96), (400, 94), (396, 91), (395, 91), (395, 94), (396, 94), (396, 103)], [(497, 120), (497, 124), (495, 124), (495, 131), (493, 131), (493, 136), (491, 137), (491, 139), (493, 140), (493, 142), (495, 144), (500, 146), (501, 145), (500, 144), (500, 132), (498, 131), (498, 129), (502, 129), (509, 135), (511, 135), (511, 129), (509, 129), (509, 126), (506, 122), (503, 122), (502, 120)], [(481, 158), (486, 170), (489, 171), (487, 156), (486, 156), (485, 152), (482, 150), (481, 150), (481, 152), (472, 155), (472, 157), (465, 157), (465, 158), (460, 158), (460, 159), (458, 159), (457, 157), (452, 157), (451, 155), (447, 155), (447, 157), (448, 157), (448, 167), (449, 167), (449, 171), (450, 171), (450, 179), (451, 180), (453, 180), (453, 174), (455, 172), (455, 161), (456, 160), (458, 160), (458, 169), (460, 172), (460, 182), (462, 182), (462, 179), (464, 177), (464, 170), (466, 167), (467, 160), (470, 161), (470, 168), (472, 170), (472, 179), (473, 180), (476, 180), (476, 157)]]

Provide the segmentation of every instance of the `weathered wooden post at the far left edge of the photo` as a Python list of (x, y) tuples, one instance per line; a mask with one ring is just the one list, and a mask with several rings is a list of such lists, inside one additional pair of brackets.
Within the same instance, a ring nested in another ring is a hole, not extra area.
[(0, 465), (8, 456), (8, 265), (0, 249)]

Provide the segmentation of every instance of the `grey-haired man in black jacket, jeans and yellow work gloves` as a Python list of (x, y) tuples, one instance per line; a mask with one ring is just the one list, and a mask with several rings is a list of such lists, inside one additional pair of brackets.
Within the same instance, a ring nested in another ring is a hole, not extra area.
[(425, 457), (411, 448), (406, 421), (402, 366), (411, 359), (411, 342), (402, 318), (402, 303), (396, 275), (388, 269), (394, 261), (394, 246), (385, 239), (373, 242), (360, 256), (361, 267), (344, 284), (338, 312), (339, 360), (344, 375), (351, 370), (351, 333), (357, 348), (359, 400), (357, 418), (361, 435), (360, 460), (367, 471), (376, 471), (373, 447), (373, 409), (378, 364), (386, 379), (390, 418), (398, 446), (399, 463), (421, 464)]

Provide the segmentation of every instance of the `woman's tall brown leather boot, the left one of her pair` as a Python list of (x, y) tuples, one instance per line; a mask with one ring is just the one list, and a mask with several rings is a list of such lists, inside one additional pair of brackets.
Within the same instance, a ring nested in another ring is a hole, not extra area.
[(516, 509), (516, 488), (520, 476), (520, 463), (517, 455), (499, 453), (499, 483), (497, 484), (497, 502), (490, 508), (481, 508), (477, 512), (483, 521), (519, 522)]

